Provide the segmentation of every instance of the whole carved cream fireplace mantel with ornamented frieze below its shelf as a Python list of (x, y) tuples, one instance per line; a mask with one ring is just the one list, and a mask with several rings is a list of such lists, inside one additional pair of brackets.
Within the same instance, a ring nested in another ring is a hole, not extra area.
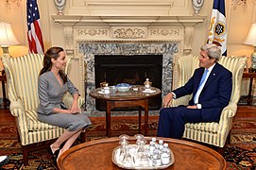
[(174, 41), (180, 42), (183, 54), (189, 54), (192, 50), (194, 27), (203, 23), (205, 18), (206, 16), (195, 15), (52, 15), (54, 22), (59, 23), (64, 28), (65, 49), (70, 56), (77, 56), (77, 42)]

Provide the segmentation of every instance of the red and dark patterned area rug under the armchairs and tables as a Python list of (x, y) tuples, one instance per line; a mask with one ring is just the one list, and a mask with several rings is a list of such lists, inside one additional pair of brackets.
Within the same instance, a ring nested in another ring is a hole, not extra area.
[[(144, 120), (144, 119), (142, 119)], [(104, 117), (93, 117), (93, 127), (86, 133), (86, 140), (93, 141), (106, 138), (106, 125)], [(143, 127), (144, 125), (142, 125)], [(156, 136), (158, 117), (150, 116), (148, 136)], [(255, 169), (256, 165), (256, 120), (244, 118), (233, 123), (230, 144), (226, 147), (224, 158), (227, 169)], [(134, 116), (112, 117), (111, 136), (128, 134), (133, 136), (138, 133), (138, 118)], [(79, 144), (77, 142), (76, 144)], [(46, 149), (31, 152), (29, 165), (23, 165), (21, 144), (18, 142), (17, 129), (14, 123), (0, 125), (0, 155), (8, 154), (10, 161), (2, 169), (57, 169)]]

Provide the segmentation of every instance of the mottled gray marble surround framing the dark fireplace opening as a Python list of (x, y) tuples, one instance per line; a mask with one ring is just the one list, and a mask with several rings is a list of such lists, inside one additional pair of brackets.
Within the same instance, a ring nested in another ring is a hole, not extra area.
[[(175, 53), (179, 52), (178, 42), (81, 42), (78, 44), (78, 48), (80, 53), (84, 56), (85, 61), (81, 62), (81, 64), (86, 71), (86, 75), (84, 76), (85, 81), (82, 81), (85, 84), (86, 110), (92, 110), (94, 113), (100, 112), (100, 110), (96, 110), (94, 98), (89, 95), (94, 88), (99, 87), (99, 84), (95, 84), (95, 56), (107, 57), (107, 59), (109, 59), (109, 56), (161, 57), (162, 76), (160, 77), (162, 78), (162, 87), (156, 86), (155, 80), (149, 77), (150, 81), (153, 82), (153, 86), (162, 89), (162, 96), (166, 95), (166, 93), (170, 92), (172, 89), (173, 56)], [(145, 76), (143, 80), (145, 81)], [(162, 101), (162, 98), (159, 101)], [(149, 113), (150, 112), (155, 112), (155, 110), (149, 110)]]

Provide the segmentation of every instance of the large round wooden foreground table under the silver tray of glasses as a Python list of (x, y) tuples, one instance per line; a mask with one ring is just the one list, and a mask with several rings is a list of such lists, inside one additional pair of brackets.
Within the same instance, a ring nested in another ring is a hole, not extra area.
[[(147, 144), (151, 138), (146, 137)], [(167, 169), (216, 169), (226, 168), (224, 158), (213, 149), (201, 144), (175, 140), (170, 138), (162, 139), (169, 144), (173, 151), (175, 162)], [(77, 169), (121, 169), (112, 162), (112, 150), (119, 146), (120, 138), (108, 138), (95, 140), (88, 143), (78, 144), (64, 152), (58, 161), (60, 170)], [(131, 138), (129, 144), (135, 144)]]

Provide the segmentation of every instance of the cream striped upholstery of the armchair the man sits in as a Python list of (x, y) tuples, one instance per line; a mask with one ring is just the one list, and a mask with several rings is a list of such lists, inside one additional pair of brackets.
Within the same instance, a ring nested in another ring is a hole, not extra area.
[[(199, 66), (197, 56), (188, 55), (178, 58), (179, 86), (184, 85)], [(232, 93), (230, 104), (221, 112), (219, 123), (196, 123), (186, 124), (183, 138), (196, 140), (198, 142), (213, 144), (218, 147), (224, 147), (227, 137), (230, 133), (232, 118), (237, 110), (237, 103), (240, 98), (242, 76), (246, 64), (246, 58), (221, 57), (218, 61), (232, 72)], [(170, 107), (187, 105), (191, 96), (183, 96), (173, 101)]]

